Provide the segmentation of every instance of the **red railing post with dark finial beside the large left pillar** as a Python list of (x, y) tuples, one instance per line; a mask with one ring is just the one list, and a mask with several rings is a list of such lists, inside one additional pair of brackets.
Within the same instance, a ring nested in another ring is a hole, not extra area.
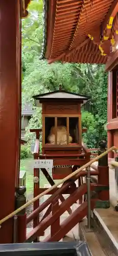
[[(26, 204), (25, 193), (26, 193), (25, 186), (19, 186), (17, 188), (16, 209)], [(25, 242), (26, 234), (27, 234), (27, 215), (26, 215), (26, 208), (25, 208), (20, 212), (18, 212), (18, 215), (17, 215), (17, 233), (15, 234), (17, 243)]]

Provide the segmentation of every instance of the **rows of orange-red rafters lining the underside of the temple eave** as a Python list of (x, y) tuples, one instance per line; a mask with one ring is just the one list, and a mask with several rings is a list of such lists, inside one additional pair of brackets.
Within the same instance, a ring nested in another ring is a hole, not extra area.
[[(111, 6), (115, 8), (113, 2), (116, 4), (115, 0), (92, 0), (92, 2), (90, 0), (51, 0), (49, 10), (52, 7), (52, 14), (47, 19), (48, 33), (45, 48), (45, 57), (48, 58), (49, 63), (58, 60), (95, 63), (95, 59), (96, 63), (106, 63), (112, 38), (109, 42), (104, 40), (101, 42), (101, 24), (109, 10), (111, 11)], [(69, 11), (70, 6), (71, 11)], [(50, 26), (52, 19), (53, 24)], [(83, 44), (88, 37), (89, 41)], [(97, 51), (97, 58), (93, 48)]]

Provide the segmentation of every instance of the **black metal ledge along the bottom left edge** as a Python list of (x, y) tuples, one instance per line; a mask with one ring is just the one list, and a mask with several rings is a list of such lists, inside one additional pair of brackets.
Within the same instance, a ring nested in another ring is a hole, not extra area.
[(1, 256), (91, 256), (86, 242), (1, 244)]

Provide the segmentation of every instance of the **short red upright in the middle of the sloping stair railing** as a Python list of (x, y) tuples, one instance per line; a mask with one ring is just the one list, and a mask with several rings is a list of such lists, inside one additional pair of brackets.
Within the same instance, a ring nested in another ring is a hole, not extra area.
[[(52, 202), (52, 215), (59, 209), (59, 200)], [(51, 225), (51, 237), (60, 229), (60, 218)]]

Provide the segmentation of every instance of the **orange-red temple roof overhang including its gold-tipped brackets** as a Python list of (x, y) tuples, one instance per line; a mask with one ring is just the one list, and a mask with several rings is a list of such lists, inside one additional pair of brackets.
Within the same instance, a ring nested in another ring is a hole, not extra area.
[(103, 63), (118, 42), (117, 0), (44, 0), (42, 58)]

